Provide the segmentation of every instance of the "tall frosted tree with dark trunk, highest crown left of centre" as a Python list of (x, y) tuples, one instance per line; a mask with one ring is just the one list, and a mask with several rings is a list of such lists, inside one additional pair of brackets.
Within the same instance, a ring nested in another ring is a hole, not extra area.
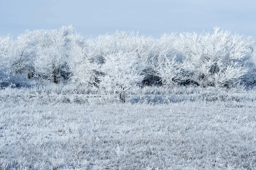
[(70, 78), (68, 61), (74, 57), (70, 56), (70, 51), (76, 46), (83, 46), (83, 38), (72, 26), (49, 30), (44, 38), (48, 39), (48, 44), (39, 44), (38, 56), (34, 61), (38, 77), (54, 83)]

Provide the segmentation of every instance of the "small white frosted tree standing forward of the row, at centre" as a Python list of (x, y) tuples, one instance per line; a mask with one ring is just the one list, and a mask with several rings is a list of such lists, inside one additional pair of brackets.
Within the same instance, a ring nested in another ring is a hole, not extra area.
[(143, 81), (141, 75), (144, 65), (140, 63), (136, 52), (118, 52), (105, 57), (99, 75), (99, 90), (101, 94), (118, 94), (125, 102), (125, 95)]

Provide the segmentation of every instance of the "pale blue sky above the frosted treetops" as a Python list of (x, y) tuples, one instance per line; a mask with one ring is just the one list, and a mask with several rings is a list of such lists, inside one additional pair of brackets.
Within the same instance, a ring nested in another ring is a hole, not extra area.
[(256, 0), (0, 0), (0, 35), (72, 24), (84, 37), (139, 31), (213, 32), (229, 29), (256, 38)]

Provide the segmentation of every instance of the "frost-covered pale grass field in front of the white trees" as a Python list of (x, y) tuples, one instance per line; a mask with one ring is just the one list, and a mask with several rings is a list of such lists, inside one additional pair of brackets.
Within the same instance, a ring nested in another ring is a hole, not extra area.
[(103, 104), (1, 90), (0, 169), (256, 169), (256, 92), (181, 91), (195, 98)]

